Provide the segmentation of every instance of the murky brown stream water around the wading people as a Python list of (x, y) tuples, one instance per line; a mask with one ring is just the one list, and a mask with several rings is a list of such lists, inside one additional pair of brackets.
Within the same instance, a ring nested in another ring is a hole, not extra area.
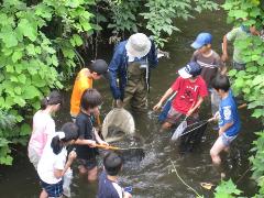
[[(170, 133), (158, 132), (157, 114), (151, 109), (175, 80), (175, 72), (190, 59), (194, 52), (190, 48), (190, 44), (196, 35), (201, 31), (211, 32), (213, 35), (212, 46), (220, 53), (222, 35), (230, 30), (230, 26), (226, 25), (226, 19), (221, 11), (206, 12), (195, 20), (178, 22), (178, 26), (183, 32), (174, 34), (165, 48), (170, 53), (170, 59), (162, 59), (158, 67), (152, 73), (151, 94), (148, 96), (150, 110), (146, 114), (134, 116), (138, 136), (134, 143), (144, 146), (145, 156), (141, 162), (138, 158), (129, 161), (120, 179), (123, 186), (132, 186), (133, 196), (139, 198), (196, 197), (190, 189), (180, 183), (175, 173), (172, 173), (173, 166), (170, 161), (175, 163), (183, 179), (205, 197), (213, 197), (213, 193), (200, 187), (200, 183), (218, 184), (220, 182), (220, 174), (211, 165), (209, 155), (210, 147), (216, 141), (218, 132), (213, 131), (209, 124), (200, 146), (193, 153), (179, 154), (177, 145), (169, 143)], [(109, 62), (112, 47), (108, 48), (100, 52), (99, 57)], [(105, 80), (99, 80), (95, 84), (95, 87), (103, 95), (102, 116), (106, 116), (111, 110), (109, 87)], [(56, 118), (57, 127), (70, 119), (68, 114), (69, 95), (70, 91), (66, 94), (67, 107)], [(241, 133), (232, 145), (231, 153), (223, 155), (224, 163), (222, 164), (222, 170), (227, 177), (231, 177), (234, 182), (240, 179), (249, 168), (248, 157), (251, 155), (249, 151), (251, 142), (255, 138), (253, 132), (261, 128), (260, 123), (250, 117), (251, 112), (240, 110), (240, 113), (242, 117)], [(201, 117), (206, 119), (210, 116), (209, 103), (206, 101)], [(133, 145), (133, 142), (131, 145)], [(76, 167), (74, 170), (73, 197), (96, 197), (97, 186), (87, 184), (86, 179), (79, 178)], [(245, 191), (246, 197), (251, 197), (255, 190), (255, 185), (250, 180), (249, 175), (246, 174), (238, 184)], [(21, 148), (18, 151), (18, 157), (14, 160), (12, 167), (0, 168), (0, 197), (33, 198), (38, 197), (40, 190), (36, 173), (26, 157), (26, 150)]]

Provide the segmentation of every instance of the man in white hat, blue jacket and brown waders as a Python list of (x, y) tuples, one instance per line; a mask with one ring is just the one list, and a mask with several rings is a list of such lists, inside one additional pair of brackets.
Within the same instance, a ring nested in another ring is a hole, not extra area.
[(143, 33), (121, 42), (109, 65), (110, 88), (118, 107), (131, 105), (132, 110), (146, 109), (150, 91), (150, 68), (157, 66), (155, 44)]

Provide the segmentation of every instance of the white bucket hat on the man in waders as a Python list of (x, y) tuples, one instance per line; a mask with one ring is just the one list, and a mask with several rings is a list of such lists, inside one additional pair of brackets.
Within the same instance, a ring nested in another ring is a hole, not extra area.
[(150, 52), (151, 41), (145, 34), (135, 33), (130, 36), (125, 50), (130, 55), (141, 58)]

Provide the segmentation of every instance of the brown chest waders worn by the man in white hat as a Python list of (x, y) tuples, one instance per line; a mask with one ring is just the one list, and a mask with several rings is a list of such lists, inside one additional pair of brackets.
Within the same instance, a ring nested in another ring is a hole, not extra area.
[(150, 91), (150, 69), (147, 58), (144, 62), (128, 64), (128, 82), (124, 89), (124, 106), (130, 103), (134, 111), (145, 111), (146, 94)]

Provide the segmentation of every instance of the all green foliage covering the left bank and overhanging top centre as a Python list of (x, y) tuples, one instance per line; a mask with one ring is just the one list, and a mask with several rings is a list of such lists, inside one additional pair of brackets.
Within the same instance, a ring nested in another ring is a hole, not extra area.
[(74, 68), (84, 66), (78, 52), (94, 51), (100, 31), (111, 31), (110, 38), (117, 42), (146, 26), (163, 46), (163, 37), (178, 30), (175, 18), (187, 20), (190, 12), (204, 9), (217, 9), (217, 4), (206, 0), (1, 1), (0, 116), (9, 114), (16, 124), (6, 128), (0, 122), (0, 164), (12, 162), (9, 144), (26, 144), (28, 123), (40, 100), (50, 89), (63, 89)]

